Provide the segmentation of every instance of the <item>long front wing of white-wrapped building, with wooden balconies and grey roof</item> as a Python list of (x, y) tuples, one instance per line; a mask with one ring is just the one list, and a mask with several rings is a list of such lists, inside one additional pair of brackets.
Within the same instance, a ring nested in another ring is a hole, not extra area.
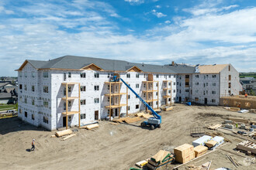
[(154, 109), (176, 97), (175, 72), (165, 66), (63, 56), (26, 60), (19, 67), (19, 117), (49, 130), (145, 110), (113, 75), (130, 84)]

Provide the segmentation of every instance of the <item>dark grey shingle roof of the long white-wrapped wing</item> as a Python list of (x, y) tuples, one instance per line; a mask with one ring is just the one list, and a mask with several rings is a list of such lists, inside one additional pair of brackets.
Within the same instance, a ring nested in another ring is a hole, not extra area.
[(123, 60), (117, 59), (100, 59), (92, 57), (83, 56), (62, 56), (57, 59), (52, 59), (49, 61), (38, 61), (38, 60), (28, 60), (36, 69), (74, 69), (79, 70), (84, 66), (88, 66), (91, 63), (101, 67), (103, 70), (112, 71), (126, 71), (133, 66), (137, 66), (143, 72), (150, 73), (194, 73), (194, 66), (180, 65), (169, 66), (169, 65), (153, 65), (153, 64), (143, 64), (143, 63), (130, 63)]

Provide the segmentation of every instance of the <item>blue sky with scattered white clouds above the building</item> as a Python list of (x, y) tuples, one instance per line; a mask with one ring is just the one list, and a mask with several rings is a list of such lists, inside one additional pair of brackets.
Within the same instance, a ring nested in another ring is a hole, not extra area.
[(254, 0), (2, 0), (0, 76), (25, 59), (231, 63), (256, 72)]

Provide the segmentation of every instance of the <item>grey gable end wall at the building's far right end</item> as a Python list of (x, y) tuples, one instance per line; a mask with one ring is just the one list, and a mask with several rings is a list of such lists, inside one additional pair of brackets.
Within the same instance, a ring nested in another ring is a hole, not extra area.
[[(243, 88), (240, 85), (239, 73), (234, 66), (231, 64), (229, 66), (226, 66), (220, 72), (220, 97), (230, 96), (232, 93), (234, 95), (239, 95), (239, 92), (242, 91)], [(231, 75), (231, 80), (229, 80), (229, 75)], [(231, 83), (231, 88), (229, 88), (229, 83)]]

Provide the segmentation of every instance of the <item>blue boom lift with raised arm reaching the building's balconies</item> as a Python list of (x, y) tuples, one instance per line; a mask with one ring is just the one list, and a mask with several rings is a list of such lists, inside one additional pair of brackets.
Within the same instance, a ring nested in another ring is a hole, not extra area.
[[(113, 82), (117, 82), (121, 80), (125, 85), (126, 87), (128, 87), (141, 101), (143, 104), (145, 104), (145, 106), (152, 112), (153, 116), (154, 117), (150, 117), (147, 119), (147, 121), (144, 121), (144, 122), (141, 122), (141, 127), (146, 127), (146, 126), (149, 126), (150, 127), (150, 130), (154, 130), (154, 128), (161, 128), (161, 121), (162, 121), (162, 118), (159, 114), (157, 114), (156, 111), (154, 111), (150, 105), (147, 104), (146, 101), (144, 101), (140, 96), (139, 94), (137, 94), (123, 79), (119, 78), (117, 79), (117, 76), (113, 76)], [(159, 112), (158, 112), (159, 113)]]

